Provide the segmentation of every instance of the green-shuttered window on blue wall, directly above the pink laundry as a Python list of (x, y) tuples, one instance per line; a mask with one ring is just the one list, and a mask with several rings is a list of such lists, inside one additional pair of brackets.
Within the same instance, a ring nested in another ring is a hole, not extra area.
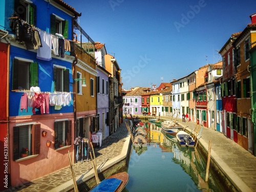
[(37, 62), (17, 58), (13, 60), (12, 89), (29, 90), (32, 86), (38, 86)]

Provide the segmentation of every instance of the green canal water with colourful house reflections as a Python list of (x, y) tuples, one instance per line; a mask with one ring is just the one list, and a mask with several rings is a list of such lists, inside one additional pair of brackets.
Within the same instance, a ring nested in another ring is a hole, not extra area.
[(206, 161), (194, 147), (180, 147), (168, 136), (151, 124), (147, 147), (131, 151), (123, 191), (225, 191), (211, 173), (205, 183)]

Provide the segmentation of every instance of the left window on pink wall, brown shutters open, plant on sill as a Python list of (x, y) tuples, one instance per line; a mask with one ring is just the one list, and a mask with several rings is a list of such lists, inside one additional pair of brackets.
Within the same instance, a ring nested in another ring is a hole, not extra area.
[(40, 124), (21, 124), (13, 127), (13, 160), (22, 157), (23, 151), (28, 156), (40, 153)]

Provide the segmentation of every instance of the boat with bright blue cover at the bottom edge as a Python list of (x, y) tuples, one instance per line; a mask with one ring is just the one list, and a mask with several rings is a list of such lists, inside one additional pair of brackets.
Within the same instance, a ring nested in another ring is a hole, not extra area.
[(104, 191), (104, 192), (121, 192), (129, 181), (129, 175), (126, 172), (121, 172), (104, 179), (90, 191)]

